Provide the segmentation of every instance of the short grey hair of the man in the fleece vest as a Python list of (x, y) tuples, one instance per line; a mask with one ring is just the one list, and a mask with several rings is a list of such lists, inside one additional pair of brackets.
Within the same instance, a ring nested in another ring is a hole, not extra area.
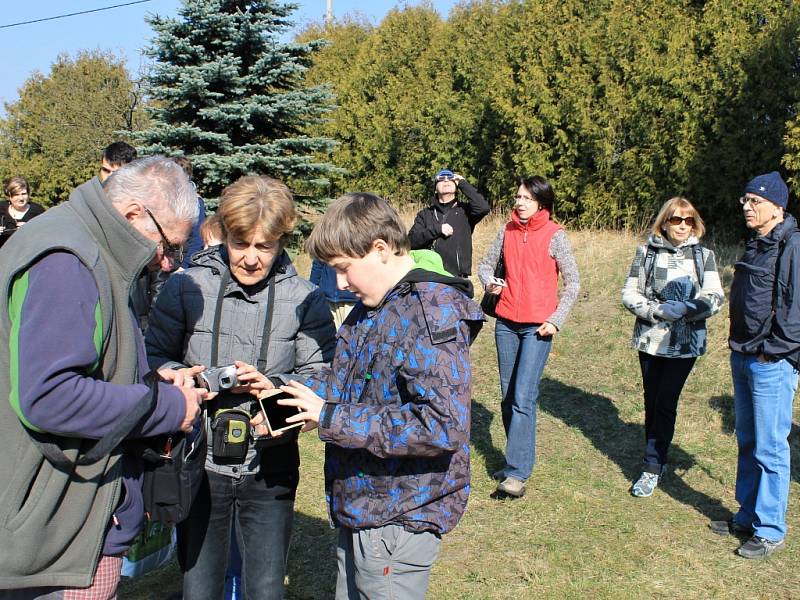
[(112, 204), (136, 200), (153, 210), (168, 209), (169, 220), (197, 221), (197, 193), (183, 169), (165, 156), (129, 162), (103, 182), (103, 189)]

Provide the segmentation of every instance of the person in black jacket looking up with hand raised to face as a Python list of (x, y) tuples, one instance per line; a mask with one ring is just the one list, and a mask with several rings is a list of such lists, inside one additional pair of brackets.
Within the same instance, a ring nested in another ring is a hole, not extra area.
[[(408, 232), (412, 250), (435, 250), (444, 268), (457, 277), (472, 272), (472, 232), (489, 214), (489, 203), (466, 179), (449, 169), (433, 178), (431, 205), (417, 213)], [(456, 200), (458, 191), (466, 202)]]

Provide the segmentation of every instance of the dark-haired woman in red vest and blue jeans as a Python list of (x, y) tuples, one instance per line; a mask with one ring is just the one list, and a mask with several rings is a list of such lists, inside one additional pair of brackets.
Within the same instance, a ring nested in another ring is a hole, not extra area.
[[(541, 177), (520, 179), (514, 212), (478, 267), (485, 293), (497, 302), (497, 362), (506, 431), (506, 464), (494, 474), (497, 491), (525, 493), (536, 460), (539, 380), (558, 333), (580, 291), (575, 257), (564, 229), (552, 219), (555, 193)], [(505, 278), (495, 277), (501, 259)], [(558, 295), (558, 274), (564, 279)]]

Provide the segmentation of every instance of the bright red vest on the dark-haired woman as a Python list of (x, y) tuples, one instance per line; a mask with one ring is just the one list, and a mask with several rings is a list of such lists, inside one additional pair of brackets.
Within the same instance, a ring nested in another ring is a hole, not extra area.
[(558, 265), (550, 241), (561, 226), (540, 210), (521, 223), (514, 214), (506, 224), (503, 260), (506, 284), (497, 315), (514, 323), (543, 323), (558, 308)]

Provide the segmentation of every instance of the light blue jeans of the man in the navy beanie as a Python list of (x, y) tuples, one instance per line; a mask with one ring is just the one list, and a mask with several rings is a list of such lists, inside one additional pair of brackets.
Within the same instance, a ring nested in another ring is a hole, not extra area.
[(758, 362), (752, 354), (731, 352), (731, 374), (739, 445), (734, 519), (777, 542), (786, 536), (797, 371), (786, 360)]

